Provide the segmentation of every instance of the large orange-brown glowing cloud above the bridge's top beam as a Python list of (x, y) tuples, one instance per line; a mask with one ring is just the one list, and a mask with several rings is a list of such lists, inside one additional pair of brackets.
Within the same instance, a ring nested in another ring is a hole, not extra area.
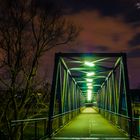
[(98, 11), (81, 11), (67, 18), (83, 27), (78, 39), (82, 45), (108, 46), (110, 52), (122, 52), (127, 51), (128, 42), (135, 35), (133, 27), (123, 19), (104, 17)]

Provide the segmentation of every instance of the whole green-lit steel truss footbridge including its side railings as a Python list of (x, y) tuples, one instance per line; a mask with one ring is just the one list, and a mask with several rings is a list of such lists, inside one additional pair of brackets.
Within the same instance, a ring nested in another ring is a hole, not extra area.
[(138, 138), (129, 92), (126, 54), (57, 53), (48, 117), (11, 129), (19, 126), (21, 140)]

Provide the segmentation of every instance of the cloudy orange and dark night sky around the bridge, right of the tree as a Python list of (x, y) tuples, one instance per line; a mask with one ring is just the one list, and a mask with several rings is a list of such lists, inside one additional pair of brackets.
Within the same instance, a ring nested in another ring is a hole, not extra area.
[(130, 88), (140, 88), (140, 0), (61, 0), (61, 3), (65, 17), (82, 27), (82, 31), (76, 42), (54, 48), (42, 58), (41, 73), (46, 73), (47, 80), (52, 79), (55, 52), (126, 52)]

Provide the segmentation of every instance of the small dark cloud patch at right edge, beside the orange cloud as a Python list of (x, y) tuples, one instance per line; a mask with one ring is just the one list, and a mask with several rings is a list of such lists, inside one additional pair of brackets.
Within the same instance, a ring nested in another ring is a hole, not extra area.
[(140, 33), (137, 33), (129, 42), (129, 47), (136, 47), (140, 45)]

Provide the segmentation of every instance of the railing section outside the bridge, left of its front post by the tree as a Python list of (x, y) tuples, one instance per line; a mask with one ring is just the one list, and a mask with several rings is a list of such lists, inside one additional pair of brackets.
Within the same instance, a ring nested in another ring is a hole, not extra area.
[[(20, 140), (39, 140), (47, 135), (48, 118), (35, 118), (24, 120), (13, 120), (10, 123), (11, 132), (18, 131)], [(12, 135), (13, 140), (17, 135)]]

